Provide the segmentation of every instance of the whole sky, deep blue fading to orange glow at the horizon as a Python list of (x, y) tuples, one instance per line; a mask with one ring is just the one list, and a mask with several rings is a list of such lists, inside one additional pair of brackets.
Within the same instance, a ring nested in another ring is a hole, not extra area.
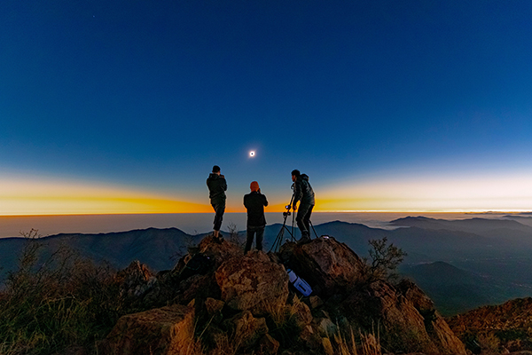
[[(0, 2), (0, 215), (532, 209), (532, 2)], [(253, 157), (249, 152), (254, 151)]]

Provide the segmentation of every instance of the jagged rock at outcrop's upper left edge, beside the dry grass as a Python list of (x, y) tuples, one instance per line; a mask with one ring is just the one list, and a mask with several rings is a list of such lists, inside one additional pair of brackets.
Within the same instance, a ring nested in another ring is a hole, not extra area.
[(157, 279), (145, 264), (135, 260), (127, 268), (116, 274), (120, 283), (120, 295), (126, 298), (141, 298), (154, 287)]

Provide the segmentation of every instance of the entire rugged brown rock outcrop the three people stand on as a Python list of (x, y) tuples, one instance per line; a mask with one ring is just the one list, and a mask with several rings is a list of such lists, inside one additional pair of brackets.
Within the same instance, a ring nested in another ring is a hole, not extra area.
[(172, 270), (134, 262), (119, 273), (121, 296), (142, 312), (121, 317), (98, 353), (466, 354), (420, 288), (370, 281), (366, 263), (332, 237), (244, 255), (207, 236)]

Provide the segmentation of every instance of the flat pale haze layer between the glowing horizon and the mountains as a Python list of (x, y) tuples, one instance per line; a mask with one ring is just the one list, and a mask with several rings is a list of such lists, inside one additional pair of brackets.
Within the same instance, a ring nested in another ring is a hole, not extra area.
[[(465, 219), (471, 217), (502, 217), (504, 214), (485, 213), (372, 213), (372, 212), (317, 212), (312, 215), (312, 223), (319, 225), (325, 222), (340, 220), (349, 223), (360, 223), (377, 228), (395, 228), (388, 225), (389, 221), (408, 216), (425, 216), (445, 219)], [(0, 238), (18, 237), (31, 229), (38, 230), (43, 236), (57, 233), (110, 233), (123, 232), (149, 227), (176, 227), (185, 233), (207, 233), (212, 228), (212, 213), (176, 213), (176, 214), (145, 214), (145, 215), (80, 215), (80, 216), (0, 216)], [(292, 225), (292, 217), (286, 218), (286, 225)], [(278, 212), (266, 213), (268, 225), (283, 223), (283, 215)], [(246, 213), (226, 213), (223, 217), (222, 231), (234, 224), (237, 229), (246, 229)]]

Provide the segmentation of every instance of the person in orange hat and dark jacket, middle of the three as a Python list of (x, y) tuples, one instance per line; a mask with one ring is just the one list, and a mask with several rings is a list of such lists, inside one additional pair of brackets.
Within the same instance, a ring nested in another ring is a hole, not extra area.
[(251, 250), (253, 244), (253, 237), (257, 235), (257, 250), (262, 250), (262, 237), (264, 235), (264, 226), (266, 225), (266, 218), (264, 217), (264, 207), (268, 206), (266, 196), (261, 193), (259, 183), (253, 181), (249, 185), (251, 193), (244, 195), (244, 206), (247, 209), (247, 227), (246, 227), (246, 248), (244, 254)]

